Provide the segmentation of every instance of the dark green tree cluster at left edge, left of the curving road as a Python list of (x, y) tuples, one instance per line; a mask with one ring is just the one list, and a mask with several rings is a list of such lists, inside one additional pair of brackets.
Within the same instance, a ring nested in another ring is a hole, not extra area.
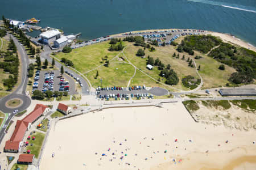
[(19, 75), (19, 57), (13, 39), (10, 39), (9, 50), (3, 53), (3, 58), (3, 61), (0, 62), (0, 69), (10, 74), (9, 78), (3, 79), (3, 85), (11, 90), (18, 82)]

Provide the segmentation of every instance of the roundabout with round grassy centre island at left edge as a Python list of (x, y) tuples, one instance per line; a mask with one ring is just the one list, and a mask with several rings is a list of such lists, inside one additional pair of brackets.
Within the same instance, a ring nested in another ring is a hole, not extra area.
[(31, 100), (26, 95), (11, 94), (0, 99), (0, 103), (2, 103), (0, 110), (3, 113), (13, 113), (16, 109), (18, 109), (18, 112), (27, 109)]

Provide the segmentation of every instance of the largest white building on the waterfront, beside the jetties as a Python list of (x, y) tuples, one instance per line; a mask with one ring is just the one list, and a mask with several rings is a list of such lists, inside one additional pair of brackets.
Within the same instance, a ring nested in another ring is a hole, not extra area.
[(41, 41), (44, 44), (52, 45), (53, 41), (60, 39), (61, 32), (57, 29), (52, 29), (43, 33), (40, 33)]

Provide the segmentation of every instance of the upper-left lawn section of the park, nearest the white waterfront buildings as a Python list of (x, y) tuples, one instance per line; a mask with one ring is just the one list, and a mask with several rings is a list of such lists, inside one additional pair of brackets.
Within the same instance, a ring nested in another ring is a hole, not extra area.
[(76, 70), (85, 73), (86, 71), (102, 65), (102, 63), (100, 63), (102, 57), (104, 58), (105, 56), (108, 56), (108, 59), (110, 60), (117, 56), (119, 52), (110, 52), (108, 50), (109, 46), (109, 41), (100, 42), (82, 48), (72, 49), (71, 53), (60, 52), (57, 53), (55, 57), (59, 59), (63, 57), (70, 59), (74, 63)]

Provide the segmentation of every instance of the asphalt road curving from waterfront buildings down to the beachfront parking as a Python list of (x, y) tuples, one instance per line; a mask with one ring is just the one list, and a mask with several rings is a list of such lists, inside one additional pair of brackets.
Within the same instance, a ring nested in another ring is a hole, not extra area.
[[(48, 62), (51, 63), (52, 57), (49, 56), (51, 53), (52, 53), (52, 50), (48, 46), (44, 46), (44, 52), (41, 53), (41, 58), (44, 58), (44, 59), (47, 58)], [(44, 60), (41, 59), (41, 61), (44, 61)], [(55, 59), (55, 66), (58, 67), (59, 69), (61, 67), (61, 63), (59, 61), (57, 61), (57, 59)], [(82, 76), (77, 74), (75, 71), (69, 69), (68, 67), (66, 67), (66, 66), (63, 66), (63, 67), (64, 67), (64, 71), (67, 70), (69, 73), (72, 73), (73, 76), (78, 77), (81, 80), (82, 95), (90, 95), (90, 87), (89, 87), (88, 83), (86, 82), (86, 80), (84, 78), (82, 78)], [(67, 77), (68, 75), (66, 74), (65, 76)]]

